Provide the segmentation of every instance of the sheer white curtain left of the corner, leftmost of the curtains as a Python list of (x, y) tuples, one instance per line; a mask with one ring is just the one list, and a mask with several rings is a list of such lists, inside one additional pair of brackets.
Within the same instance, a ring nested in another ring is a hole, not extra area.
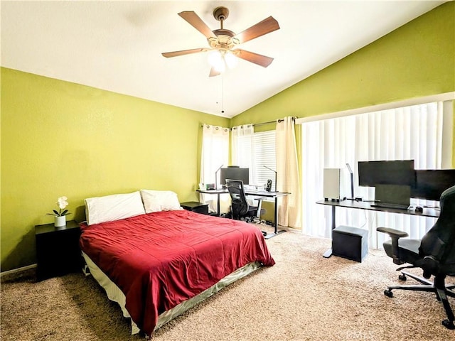
[[(200, 156), (200, 183), (215, 183), (215, 172), (229, 160), (229, 128), (203, 124), (202, 151)], [(219, 173), (218, 173), (219, 176)], [(222, 200), (223, 198), (221, 198)], [(209, 205), (210, 212), (217, 207), (216, 195), (200, 195), (200, 200)]]

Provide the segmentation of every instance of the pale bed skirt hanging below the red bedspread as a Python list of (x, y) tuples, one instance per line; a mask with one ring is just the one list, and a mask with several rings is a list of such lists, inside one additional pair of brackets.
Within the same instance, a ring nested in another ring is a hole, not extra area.
[[(119, 289), (117, 285), (115, 285), (114, 282), (112, 282), (109, 279), (109, 277), (106, 276), (104, 272), (101, 271), (101, 269), (83, 251), (82, 256), (85, 259), (85, 263), (87, 264), (88, 269), (90, 269), (90, 274), (92, 274), (93, 278), (95, 278), (95, 280), (100, 284), (100, 286), (102, 286), (102, 288), (105, 289), (107, 298), (109, 298), (109, 300), (111, 301), (117, 302), (120, 308), (122, 309), (124, 317), (130, 318), (131, 320), (131, 315), (129, 315), (127, 308), (125, 308), (126, 297), (124, 296), (124, 293)], [(206, 298), (212, 296), (214, 293), (217, 293), (221, 289), (225, 288), (225, 286), (228, 286), (230, 283), (233, 283), (238, 279), (251, 274), (253, 271), (259, 269), (260, 267), (261, 264), (257, 261), (242, 266), (240, 269), (237, 269), (236, 271), (232, 272), (232, 274), (225, 276), (225, 278), (221, 279), (218, 283), (215, 283), (213, 286), (206, 289), (198, 296), (190, 298), (187, 301), (183, 301), (182, 303), (176, 305), (172, 309), (166, 310), (164, 313), (161, 313), (158, 316), (158, 322), (156, 323), (154, 330), (157, 330), (158, 328), (168, 323), (173, 318), (176, 318), (178, 315), (185, 313), (186, 310), (193, 308), (195, 305), (204, 301)], [(137, 327), (136, 323), (133, 322), (133, 320), (131, 320), (131, 326), (132, 334), (139, 333), (139, 328)]]

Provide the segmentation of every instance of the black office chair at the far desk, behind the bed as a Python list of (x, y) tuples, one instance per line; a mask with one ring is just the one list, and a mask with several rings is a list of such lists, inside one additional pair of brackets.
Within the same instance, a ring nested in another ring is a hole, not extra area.
[(240, 220), (243, 217), (259, 218), (261, 212), (261, 203), (264, 198), (255, 197), (258, 200), (257, 206), (250, 206), (245, 196), (245, 189), (242, 180), (226, 179), (226, 187), (228, 188), (231, 199), (231, 214), (232, 219)]

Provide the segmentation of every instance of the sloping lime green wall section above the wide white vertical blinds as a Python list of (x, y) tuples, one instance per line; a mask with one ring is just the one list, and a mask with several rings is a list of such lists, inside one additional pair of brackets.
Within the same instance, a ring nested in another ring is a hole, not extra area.
[(231, 126), (452, 91), (455, 3), (449, 2), (237, 115)]

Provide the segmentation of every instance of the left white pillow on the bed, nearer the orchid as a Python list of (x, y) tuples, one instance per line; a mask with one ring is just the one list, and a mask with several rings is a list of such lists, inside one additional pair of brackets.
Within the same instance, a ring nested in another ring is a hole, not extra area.
[(139, 190), (133, 193), (85, 199), (85, 215), (88, 225), (112, 222), (144, 214), (144, 205), (142, 205)]

